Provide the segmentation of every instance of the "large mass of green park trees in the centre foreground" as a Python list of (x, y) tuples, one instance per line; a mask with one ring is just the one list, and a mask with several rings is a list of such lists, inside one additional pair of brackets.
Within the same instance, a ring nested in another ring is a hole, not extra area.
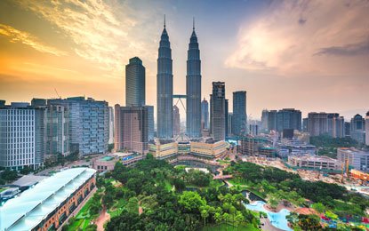
[[(124, 187), (106, 187), (112, 201), (124, 199), (124, 211), (113, 217), (107, 230), (198, 230), (211, 224), (253, 223), (257, 220), (242, 202), (245, 196), (228, 187), (213, 187), (212, 176), (203, 171), (185, 171), (148, 155), (135, 168), (116, 163), (106, 179)], [(187, 187), (196, 189), (187, 191)], [(110, 199), (106, 206), (110, 207)]]

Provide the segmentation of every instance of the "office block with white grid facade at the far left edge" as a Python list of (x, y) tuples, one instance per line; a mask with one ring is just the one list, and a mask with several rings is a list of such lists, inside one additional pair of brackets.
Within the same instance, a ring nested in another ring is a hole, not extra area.
[(0, 107), (0, 166), (21, 170), (38, 169), (44, 163), (45, 108), (28, 103)]

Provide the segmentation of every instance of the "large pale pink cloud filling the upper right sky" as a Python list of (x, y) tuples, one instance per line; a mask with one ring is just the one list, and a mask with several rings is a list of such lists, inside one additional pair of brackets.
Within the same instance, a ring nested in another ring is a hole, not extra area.
[(272, 2), (242, 24), (225, 66), (285, 76), (367, 74), (367, 12), (368, 1)]

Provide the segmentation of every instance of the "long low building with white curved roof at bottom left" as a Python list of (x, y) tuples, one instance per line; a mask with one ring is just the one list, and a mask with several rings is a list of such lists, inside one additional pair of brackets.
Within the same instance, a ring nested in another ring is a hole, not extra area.
[(0, 207), (0, 230), (59, 229), (94, 189), (95, 173), (72, 168), (41, 180)]

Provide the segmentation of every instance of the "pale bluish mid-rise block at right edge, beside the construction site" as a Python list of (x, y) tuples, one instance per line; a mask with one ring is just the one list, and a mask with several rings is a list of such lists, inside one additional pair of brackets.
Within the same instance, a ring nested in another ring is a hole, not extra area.
[(345, 163), (349, 161), (349, 165), (356, 170), (369, 171), (369, 150), (359, 150), (353, 147), (337, 148), (337, 159)]

